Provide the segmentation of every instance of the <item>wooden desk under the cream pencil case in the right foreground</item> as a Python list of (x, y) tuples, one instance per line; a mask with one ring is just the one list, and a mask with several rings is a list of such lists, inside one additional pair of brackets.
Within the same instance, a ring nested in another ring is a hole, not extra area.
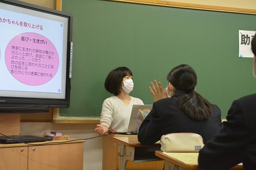
[[(164, 152), (157, 150), (155, 152), (156, 156), (164, 159), (164, 169), (179, 169), (179, 170), (199, 170), (197, 163), (198, 152), (180, 152), (180, 153), (172, 153), (169, 152), (166, 155)], [(236, 165), (231, 169), (243, 169), (243, 165)]]

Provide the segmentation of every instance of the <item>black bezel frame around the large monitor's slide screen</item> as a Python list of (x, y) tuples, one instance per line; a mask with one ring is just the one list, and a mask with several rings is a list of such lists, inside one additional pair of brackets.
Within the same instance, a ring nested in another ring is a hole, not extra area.
[[(49, 13), (53, 15), (58, 15), (68, 19), (68, 37), (67, 37), (67, 65), (66, 65), (66, 91), (65, 99), (51, 99), (51, 98), (24, 98), (24, 97), (4, 97), (0, 96), (0, 109), (5, 111), (9, 109), (24, 110), (28, 109), (44, 109), (44, 108), (68, 108), (70, 105), (70, 90), (71, 90), (71, 79), (69, 78), (70, 73), (70, 48), (72, 42), (72, 31), (73, 31), (73, 15), (70, 13), (53, 10), (51, 8), (38, 6), (26, 2), (14, 1), (14, 0), (0, 0), (1, 3), (6, 3), (10, 5), (15, 5), (30, 10), (41, 11), (44, 13)], [(72, 56), (71, 56), (72, 57)], [(71, 74), (71, 73), (70, 73)], [(7, 109), (7, 110), (6, 110)]]

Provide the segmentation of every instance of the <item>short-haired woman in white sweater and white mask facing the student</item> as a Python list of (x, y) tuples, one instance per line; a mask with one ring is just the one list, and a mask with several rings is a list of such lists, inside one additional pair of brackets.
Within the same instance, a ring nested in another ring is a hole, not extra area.
[(100, 124), (95, 131), (105, 134), (109, 129), (127, 132), (133, 105), (143, 105), (139, 98), (129, 95), (133, 90), (132, 71), (127, 67), (112, 70), (106, 80), (105, 89), (114, 96), (103, 101)]

